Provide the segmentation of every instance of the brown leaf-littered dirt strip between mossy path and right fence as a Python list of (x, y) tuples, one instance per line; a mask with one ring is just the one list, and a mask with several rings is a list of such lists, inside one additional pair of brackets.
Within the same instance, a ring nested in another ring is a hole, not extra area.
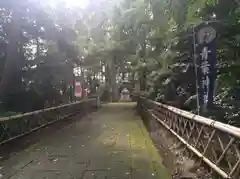
[(150, 137), (163, 157), (164, 165), (171, 169), (172, 179), (211, 179), (208, 170), (197, 160), (187, 157), (185, 146), (154, 119), (143, 119)]

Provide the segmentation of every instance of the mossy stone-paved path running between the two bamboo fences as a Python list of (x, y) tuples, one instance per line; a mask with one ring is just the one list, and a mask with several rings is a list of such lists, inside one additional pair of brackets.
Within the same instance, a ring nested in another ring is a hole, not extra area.
[(0, 162), (5, 179), (170, 179), (134, 103), (103, 106)]

